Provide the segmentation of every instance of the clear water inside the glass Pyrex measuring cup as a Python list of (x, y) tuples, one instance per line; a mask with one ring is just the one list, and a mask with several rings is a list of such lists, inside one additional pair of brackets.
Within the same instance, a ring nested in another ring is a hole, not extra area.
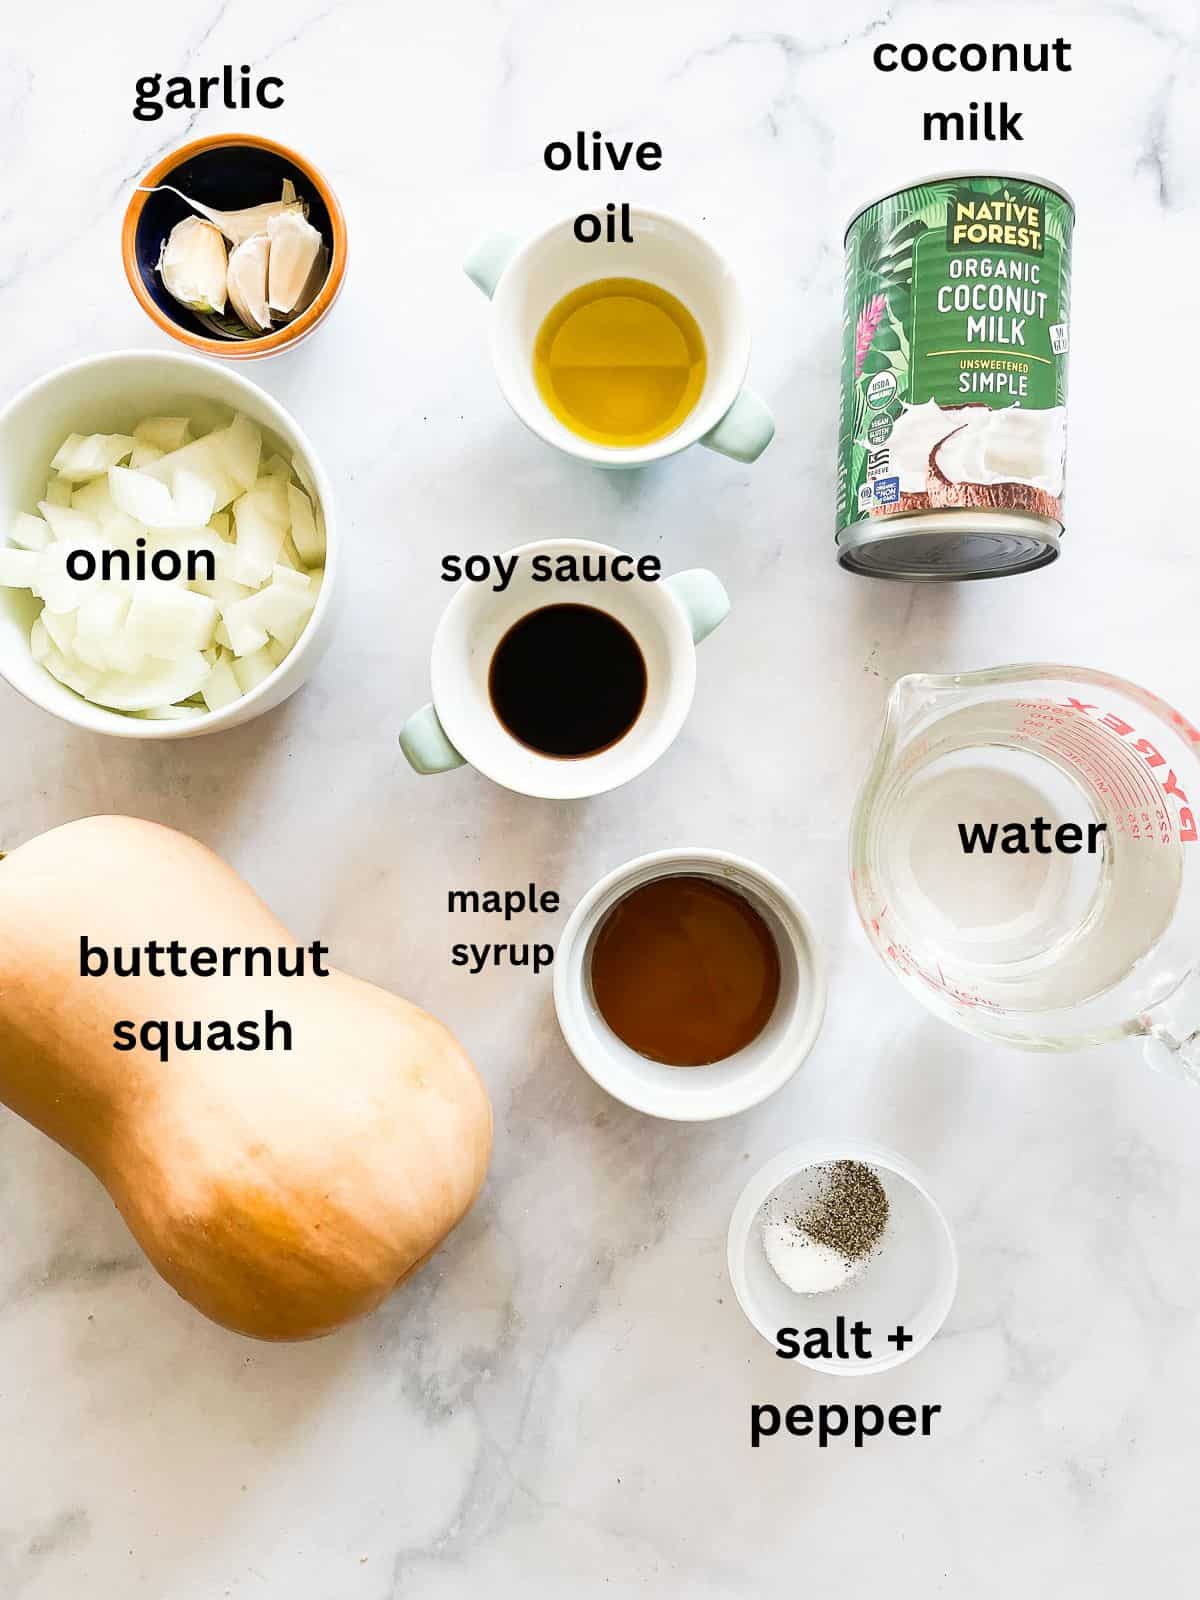
[[(874, 811), (883, 933), (954, 995), (1080, 1005), (1128, 976), (1179, 899), (1182, 851), (1158, 779), (1086, 710), (962, 706), (898, 752)], [(1037, 848), (1035, 818), (1050, 848)], [(1024, 851), (1003, 848), (1010, 824), (1024, 824)], [(1056, 848), (1059, 824), (1078, 827), (1082, 848)]]

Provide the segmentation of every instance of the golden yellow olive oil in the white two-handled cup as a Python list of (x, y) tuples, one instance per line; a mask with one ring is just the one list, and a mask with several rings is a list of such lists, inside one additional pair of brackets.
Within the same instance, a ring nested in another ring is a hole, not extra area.
[(642, 278), (600, 278), (547, 315), (538, 389), (565, 427), (632, 448), (674, 432), (704, 389), (704, 338), (688, 307)]

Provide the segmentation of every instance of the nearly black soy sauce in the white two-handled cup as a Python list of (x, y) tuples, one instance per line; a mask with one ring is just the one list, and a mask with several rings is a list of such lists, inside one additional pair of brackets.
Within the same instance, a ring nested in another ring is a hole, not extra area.
[(622, 739), (646, 701), (637, 640), (608, 611), (547, 605), (496, 646), (491, 704), (514, 736), (541, 755), (597, 755)]

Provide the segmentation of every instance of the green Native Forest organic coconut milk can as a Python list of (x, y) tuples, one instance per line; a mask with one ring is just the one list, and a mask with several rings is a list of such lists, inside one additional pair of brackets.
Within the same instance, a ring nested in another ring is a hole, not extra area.
[(931, 178), (846, 229), (840, 563), (1000, 578), (1059, 552), (1070, 198), (1037, 178)]

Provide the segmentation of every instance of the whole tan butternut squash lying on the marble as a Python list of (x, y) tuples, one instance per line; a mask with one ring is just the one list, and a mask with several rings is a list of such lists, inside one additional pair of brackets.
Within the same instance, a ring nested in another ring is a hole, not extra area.
[[(82, 978), (82, 936), (296, 941), (218, 856), (152, 822), (69, 822), (0, 861), (0, 1101), (91, 1168), (206, 1317), (259, 1339), (331, 1333), (470, 1208), (491, 1107), (435, 1018), (336, 970)], [(114, 1048), (117, 1019), (267, 1008), (290, 1051)]]

